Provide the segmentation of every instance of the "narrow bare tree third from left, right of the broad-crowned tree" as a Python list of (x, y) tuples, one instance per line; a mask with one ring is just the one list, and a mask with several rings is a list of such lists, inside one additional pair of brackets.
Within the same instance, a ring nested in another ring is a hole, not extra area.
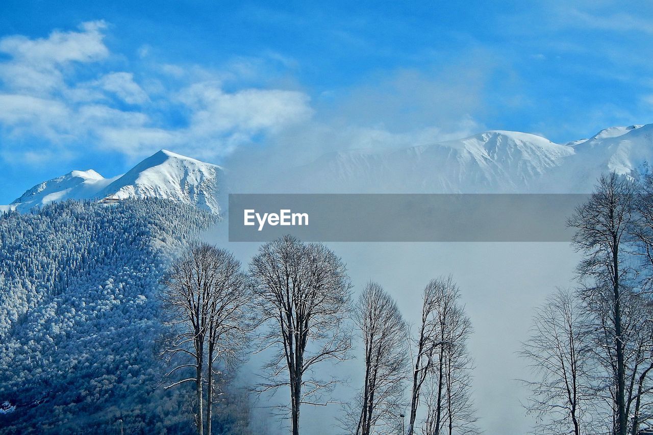
[(360, 294), (353, 319), (362, 334), (365, 378), (358, 406), (349, 413), (349, 430), (357, 435), (395, 434), (406, 406), (406, 322), (396, 302), (374, 282)]

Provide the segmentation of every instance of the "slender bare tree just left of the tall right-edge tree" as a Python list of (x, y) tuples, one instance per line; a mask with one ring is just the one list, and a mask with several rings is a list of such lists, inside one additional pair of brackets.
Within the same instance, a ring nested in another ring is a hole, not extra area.
[(559, 289), (535, 312), (531, 335), (520, 355), (535, 376), (527, 408), (542, 433), (586, 435), (597, 397), (592, 359), (591, 322), (581, 302)]

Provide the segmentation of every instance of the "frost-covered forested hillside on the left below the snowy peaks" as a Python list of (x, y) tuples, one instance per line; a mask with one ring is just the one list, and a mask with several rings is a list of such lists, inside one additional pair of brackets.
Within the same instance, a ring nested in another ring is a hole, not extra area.
[[(1, 215), (0, 432), (116, 433), (119, 419), (126, 433), (193, 432), (186, 391), (159, 387), (157, 295), (216, 219), (162, 199)], [(216, 414), (215, 432), (236, 424)]]

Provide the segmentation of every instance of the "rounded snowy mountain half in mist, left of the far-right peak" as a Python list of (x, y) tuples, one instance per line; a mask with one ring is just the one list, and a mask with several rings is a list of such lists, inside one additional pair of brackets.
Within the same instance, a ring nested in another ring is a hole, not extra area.
[(384, 153), (339, 152), (302, 168), (318, 191), (492, 193), (531, 191), (575, 153), (571, 146), (511, 131)]

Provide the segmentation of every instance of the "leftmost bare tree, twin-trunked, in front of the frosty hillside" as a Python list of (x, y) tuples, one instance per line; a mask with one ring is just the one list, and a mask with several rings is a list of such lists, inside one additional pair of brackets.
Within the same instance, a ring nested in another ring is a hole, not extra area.
[(245, 281), (240, 262), (231, 253), (204, 243), (193, 244), (162, 280), (165, 324), (170, 327), (163, 353), (174, 364), (166, 378), (193, 369), (193, 376), (172, 381), (166, 388), (195, 383), (199, 435), (204, 435), (204, 381), (206, 434), (210, 435), (214, 375), (219, 374), (219, 364), (231, 362), (244, 344), (251, 302)]

